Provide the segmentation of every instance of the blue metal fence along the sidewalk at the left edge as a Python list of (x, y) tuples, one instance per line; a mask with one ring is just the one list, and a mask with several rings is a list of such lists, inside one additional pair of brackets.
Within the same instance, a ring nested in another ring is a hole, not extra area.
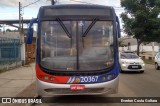
[(0, 37), (0, 65), (21, 60), (20, 40)]

